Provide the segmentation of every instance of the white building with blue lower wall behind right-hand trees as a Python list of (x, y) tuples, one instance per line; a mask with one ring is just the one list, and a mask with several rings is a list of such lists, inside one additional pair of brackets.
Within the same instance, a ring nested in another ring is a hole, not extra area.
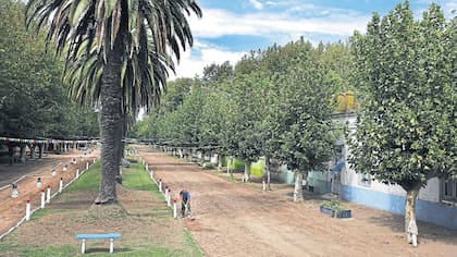
[[(349, 130), (356, 130), (356, 117), (344, 113), (337, 117)], [(342, 138), (337, 142), (342, 152), (342, 169), (333, 170), (337, 164), (332, 161), (326, 172), (310, 172), (308, 183), (314, 192), (338, 194), (342, 198), (393, 213), (405, 213), (406, 192), (398, 185), (386, 185), (372, 180), (371, 175), (356, 173), (349, 168), (348, 145)], [(333, 170), (333, 172), (332, 172)], [(416, 206), (417, 219), (441, 227), (457, 230), (457, 182), (443, 179), (431, 179), (420, 189)]]

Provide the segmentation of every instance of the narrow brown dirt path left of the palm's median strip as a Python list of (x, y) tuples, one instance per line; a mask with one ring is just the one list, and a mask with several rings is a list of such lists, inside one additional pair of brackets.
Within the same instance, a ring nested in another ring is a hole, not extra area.
[[(84, 155), (84, 159), (81, 156)], [(92, 161), (99, 155), (98, 150), (89, 154), (74, 150), (63, 155), (48, 155), (45, 159), (28, 161), (24, 164), (0, 166), (0, 235), (14, 227), (25, 216), (25, 203), (30, 200), (32, 209), (40, 205), (40, 194), (48, 185), (51, 194), (59, 189), (59, 181), (67, 184), (76, 175), (76, 169), (83, 171), (87, 161)], [(76, 164), (71, 163), (76, 159)], [(66, 166), (66, 171), (63, 168)], [(55, 169), (55, 176), (52, 176)], [(37, 179), (41, 178), (41, 187), (37, 188)], [(11, 197), (11, 183), (17, 182), (18, 197)]]

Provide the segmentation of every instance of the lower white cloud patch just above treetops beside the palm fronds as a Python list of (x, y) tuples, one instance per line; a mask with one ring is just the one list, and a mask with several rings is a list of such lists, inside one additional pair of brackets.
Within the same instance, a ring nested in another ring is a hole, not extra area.
[(201, 76), (203, 68), (212, 63), (221, 64), (225, 61), (230, 61), (232, 65), (235, 65), (245, 54), (246, 52), (226, 51), (219, 49), (215, 46), (196, 41), (192, 50), (187, 50), (182, 54), (180, 63), (176, 64), (176, 75), (171, 73), (172, 76), (170, 79), (176, 77), (195, 77), (195, 75)]

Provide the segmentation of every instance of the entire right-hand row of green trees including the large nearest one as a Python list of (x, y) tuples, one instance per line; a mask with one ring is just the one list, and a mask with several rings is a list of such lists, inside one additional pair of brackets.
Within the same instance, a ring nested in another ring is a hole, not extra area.
[[(205, 69), (202, 77), (170, 83), (163, 105), (134, 135), (171, 146), (194, 146), (249, 164), (276, 159), (302, 175), (322, 171), (335, 139), (334, 97), (357, 95), (356, 132), (345, 133), (350, 166), (406, 192), (405, 229), (431, 178), (457, 175), (456, 17), (431, 4), (415, 20), (409, 2), (347, 44), (299, 39), (251, 51), (235, 66)], [(301, 194), (298, 194), (301, 195)]]

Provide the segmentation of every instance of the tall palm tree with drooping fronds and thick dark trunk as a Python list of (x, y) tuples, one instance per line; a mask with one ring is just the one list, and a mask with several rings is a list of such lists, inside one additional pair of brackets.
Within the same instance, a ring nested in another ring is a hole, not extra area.
[(48, 45), (66, 54), (66, 71), (79, 69), (85, 76), (85, 84), (76, 83), (83, 77), (75, 78), (73, 91), (82, 98), (91, 95), (101, 107), (97, 204), (118, 201), (123, 113), (160, 99), (168, 76), (163, 66), (172, 65), (171, 54), (180, 60), (181, 49), (193, 44), (187, 22), (192, 12), (201, 16), (194, 0), (30, 0), (27, 4), (27, 27), (46, 27)]

